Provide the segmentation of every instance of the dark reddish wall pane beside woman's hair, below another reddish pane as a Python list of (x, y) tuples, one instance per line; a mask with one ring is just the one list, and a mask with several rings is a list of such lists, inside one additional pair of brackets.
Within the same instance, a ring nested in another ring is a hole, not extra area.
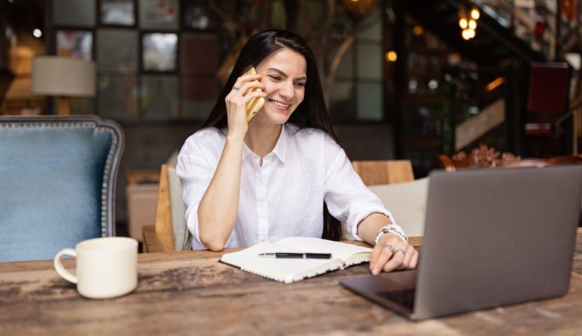
[(184, 118), (205, 120), (218, 99), (218, 82), (214, 78), (184, 78), (182, 99)]

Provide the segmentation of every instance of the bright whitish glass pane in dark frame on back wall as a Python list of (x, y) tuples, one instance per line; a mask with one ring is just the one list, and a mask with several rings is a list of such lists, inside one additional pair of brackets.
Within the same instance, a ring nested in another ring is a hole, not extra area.
[(143, 67), (148, 71), (175, 71), (177, 34), (144, 34)]

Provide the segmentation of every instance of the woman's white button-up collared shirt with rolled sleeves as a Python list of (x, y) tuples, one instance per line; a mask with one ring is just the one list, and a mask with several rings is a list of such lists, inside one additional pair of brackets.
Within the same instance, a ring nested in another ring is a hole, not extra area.
[[(202, 129), (190, 135), (178, 155), (176, 171), (194, 249), (205, 248), (199, 237), (198, 207), (225, 141), (225, 130)], [(260, 157), (243, 144), (238, 216), (226, 247), (277, 242), (290, 236), (321, 237), (324, 201), (331, 216), (345, 222), (356, 239), (360, 239), (357, 224), (370, 214), (385, 214), (395, 223), (327, 133), (283, 125), (262, 166)]]

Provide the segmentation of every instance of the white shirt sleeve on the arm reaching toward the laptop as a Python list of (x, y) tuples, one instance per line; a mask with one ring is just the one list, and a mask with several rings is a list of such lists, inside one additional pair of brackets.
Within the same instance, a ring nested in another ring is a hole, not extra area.
[(353, 237), (362, 240), (357, 235), (357, 224), (370, 214), (384, 214), (396, 224), (380, 198), (370, 192), (353, 170), (344, 150), (329, 136), (325, 137), (325, 164), (324, 201), (327, 209), (331, 216), (347, 224)]

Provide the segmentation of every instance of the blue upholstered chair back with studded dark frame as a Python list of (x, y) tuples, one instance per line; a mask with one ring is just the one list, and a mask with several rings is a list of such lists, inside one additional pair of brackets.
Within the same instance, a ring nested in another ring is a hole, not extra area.
[(98, 116), (0, 116), (0, 262), (115, 235), (123, 146)]

